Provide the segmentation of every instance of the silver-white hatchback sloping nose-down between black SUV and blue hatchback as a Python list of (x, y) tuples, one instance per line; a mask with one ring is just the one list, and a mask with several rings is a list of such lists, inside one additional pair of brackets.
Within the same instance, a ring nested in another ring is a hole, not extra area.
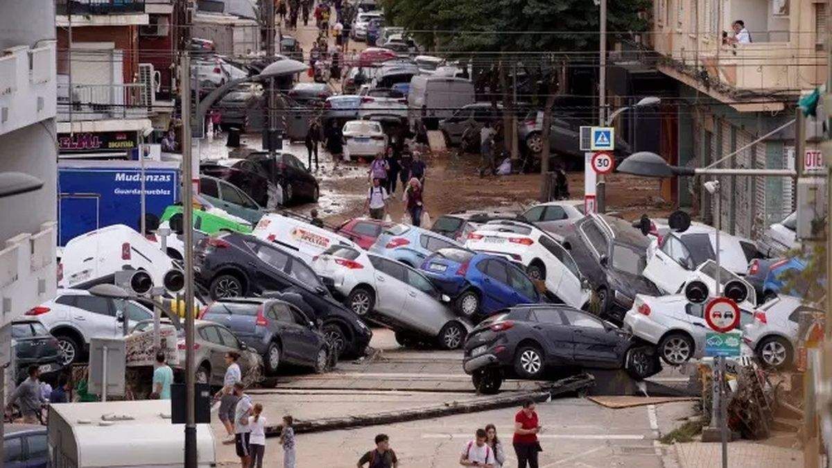
[(428, 338), (453, 350), (473, 329), (471, 321), (451, 311), (448, 296), (399, 261), (357, 246), (332, 246), (315, 257), (312, 268), (346, 306), (389, 326), (403, 346)]

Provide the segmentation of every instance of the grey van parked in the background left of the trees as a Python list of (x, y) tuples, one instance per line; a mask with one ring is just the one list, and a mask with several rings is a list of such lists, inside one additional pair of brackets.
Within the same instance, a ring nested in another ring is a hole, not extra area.
[(425, 126), (435, 129), (442, 119), (451, 117), (456, 109), (473, 104), (473, 82), (465, 78), (417, 75), (410, 79), (408, 92), (408, 123), (411, 130), (426, 108)]

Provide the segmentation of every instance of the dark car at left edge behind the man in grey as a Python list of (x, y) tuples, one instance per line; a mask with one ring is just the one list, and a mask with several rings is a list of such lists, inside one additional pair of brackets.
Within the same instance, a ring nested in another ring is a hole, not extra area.
[(63, 354), (57, 338), (52, 336), (46, 326), (37, 320), (12, 321), (12, 340), (15, 346), (17, 362), (16, 381), (19, 383), (28, 376), (29, 366), (36, 365), (41, 374), (50, 374), (63, 368)]

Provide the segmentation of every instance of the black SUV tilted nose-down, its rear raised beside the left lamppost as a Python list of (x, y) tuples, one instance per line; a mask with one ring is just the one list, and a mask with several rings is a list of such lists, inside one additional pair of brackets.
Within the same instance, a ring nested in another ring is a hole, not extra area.
[(196, 282), (214, 300), (265, 296), (269, 291), (299, 294), (314, 311), (314, 318), (323, 321), (321, 330), (339, 354), (364, 354), (373, 336), (353, 311), (334, 300), (303, 260), (272, 242), (239, 233), (206, 237), (196, 246), (194, 272)]

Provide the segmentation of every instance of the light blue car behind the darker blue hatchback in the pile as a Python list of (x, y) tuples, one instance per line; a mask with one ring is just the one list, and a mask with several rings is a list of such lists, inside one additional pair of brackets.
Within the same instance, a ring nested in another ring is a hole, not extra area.
[(369, 251), (418, 268), (434, 251), (448, 247), (462, 248), (462, 244), (421, 227), (395, 224), (381, 232)]

